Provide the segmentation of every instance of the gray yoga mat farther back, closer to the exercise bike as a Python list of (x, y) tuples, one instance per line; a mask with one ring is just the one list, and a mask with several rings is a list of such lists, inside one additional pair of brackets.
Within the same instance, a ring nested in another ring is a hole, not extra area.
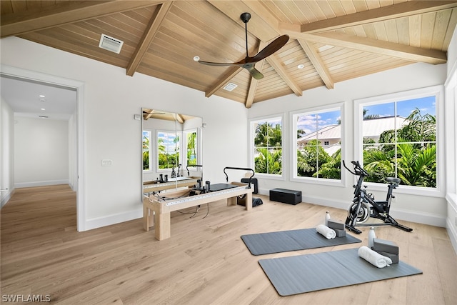
[(326, 239), (315, 228), (290, 231), (277, 231), (260, 234), (242, 235), (241, 239), (253, 255), (297, 251), (341, 244), (354, 244), (360, 239), (346, 234), (343, 237)]

